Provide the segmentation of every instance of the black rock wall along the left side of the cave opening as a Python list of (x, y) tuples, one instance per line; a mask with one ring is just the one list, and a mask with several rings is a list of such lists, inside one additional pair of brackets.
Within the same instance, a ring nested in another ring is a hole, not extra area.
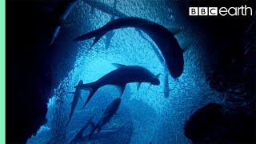
[[(6, 2), (6, 142), (26, 142), (46, 123), (50, 47), (36, 2)], [(45, 31), (45, 32), (44, 32)]]

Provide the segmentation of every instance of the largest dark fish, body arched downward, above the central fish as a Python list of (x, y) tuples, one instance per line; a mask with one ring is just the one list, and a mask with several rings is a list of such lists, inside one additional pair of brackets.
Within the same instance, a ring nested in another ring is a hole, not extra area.
[(163, 58), (165, 58), (166, 66), (170, 75), (173, 78), (178, 78), (182, 75), (184, 69), (184, 50), (182, 50), (177, 39), (174, 37), (174, 34), (172, 34), (170, 30), (166, 29), (166, 27), (144, 18), (117, 18), (106, 23), (106, 25), (97, 30), (93, 30), (87, 34), (79, 36), (78, 38), (74, 38), (74, 41), (84, 41), (95, 37), (93, 44), (90, 46), (91, 48), (107, 32), (126, 27), (134, 27), (148, 34), (158, 46)]

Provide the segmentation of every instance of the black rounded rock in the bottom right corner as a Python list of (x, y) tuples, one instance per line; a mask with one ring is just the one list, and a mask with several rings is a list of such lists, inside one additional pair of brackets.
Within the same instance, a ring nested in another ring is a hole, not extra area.
[(254, 114), (226, 110), (210, 103), (197, 110), (184, 126), (184, 134), (193, 143), (256, 142)]

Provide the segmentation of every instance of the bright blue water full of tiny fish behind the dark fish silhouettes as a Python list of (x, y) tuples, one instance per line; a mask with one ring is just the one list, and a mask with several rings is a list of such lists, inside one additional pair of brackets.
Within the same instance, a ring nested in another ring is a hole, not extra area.
[[(101, 2), (110, 6), (113, 3), (106, 0)], [(118, 98), (118, 88), (103, 86), (81, 110), (89, 94), (88, 91), (82, 91), (83, 102), (78, 102), (67, 128), (65, 125), (73, 95), (66, 93), (74, 91), (74, 86), (80, 80), (84, 83), (94, 82), (115, 70), (111, 63), (144, 66), (154, 74), (161, 73), (161, 84), (150, 86), (148, 83), (142, 83), (139, 90), (136, 84), (128, 84), (117, 114), (102, 128), (114, 128), (118, 129), (118, 132), (109, 138), (91, 143), (191, 143), (183, 135), (184, 123), (195, 110), (206, 103), (218, 102), (218, 99), (215, 99), (218, 93), (210, 89), (204, 75), (205, 58), (202, 49), (198, 49), (203, 46), (201, 37), (194, 34), (186, 23), (182, 23), (182, 20), (177, 18), (178, 14), (175, 15), (175, 10), (167, 8), (164, 1), (118, 1), (117, 9), (128, 16), (146, 18), (162, 26), (181, 26), (183, 31), (176, 36), (178, 42), (186, 42), (186, 38), (194, 39), (194, 43), (184, 52), (185, 67), (182, 76), (174, 80), (169, 74), (169, 97), (166, 98), (164, 95), (165, 74), (168, 74), (166, 66), (159, 62), (150, 43), (133, 28), (114, 30), (115, 34), (108, 50), (105, 50), (106, 37), (100, 39), (89, 51), (93, 39), (78, 42), (74, 69), (70, 70), (68, 76), (57, 87), (54, 87), (54, 95), (48, 104), (48, 122), (27, 143), (66, 143), (91, 116), (94, 115), (94, 121), (98, 120), (102, 110)], [(90, 6), (82, 1), (78, 2), (67, 18), (78, 27), (70, 37), (75, 38), (95, 30), (109, 22), (110, 18), (109, 14), (100, 10), (91, 13)], [(60, 34), (65, 33), (61, 31)], [(61, 40), (58, 38), (58, 42)], [(150, 41), (153, 42), (151, 39)], [(89, 132), (88, 128), (84, 134)]]

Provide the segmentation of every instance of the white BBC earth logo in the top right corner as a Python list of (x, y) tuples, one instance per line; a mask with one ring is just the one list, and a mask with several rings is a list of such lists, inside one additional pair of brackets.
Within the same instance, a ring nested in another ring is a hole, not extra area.
[(253, 9), (251, 7), (190, 7), (190, 16), (247, 16), (253, 15)]

